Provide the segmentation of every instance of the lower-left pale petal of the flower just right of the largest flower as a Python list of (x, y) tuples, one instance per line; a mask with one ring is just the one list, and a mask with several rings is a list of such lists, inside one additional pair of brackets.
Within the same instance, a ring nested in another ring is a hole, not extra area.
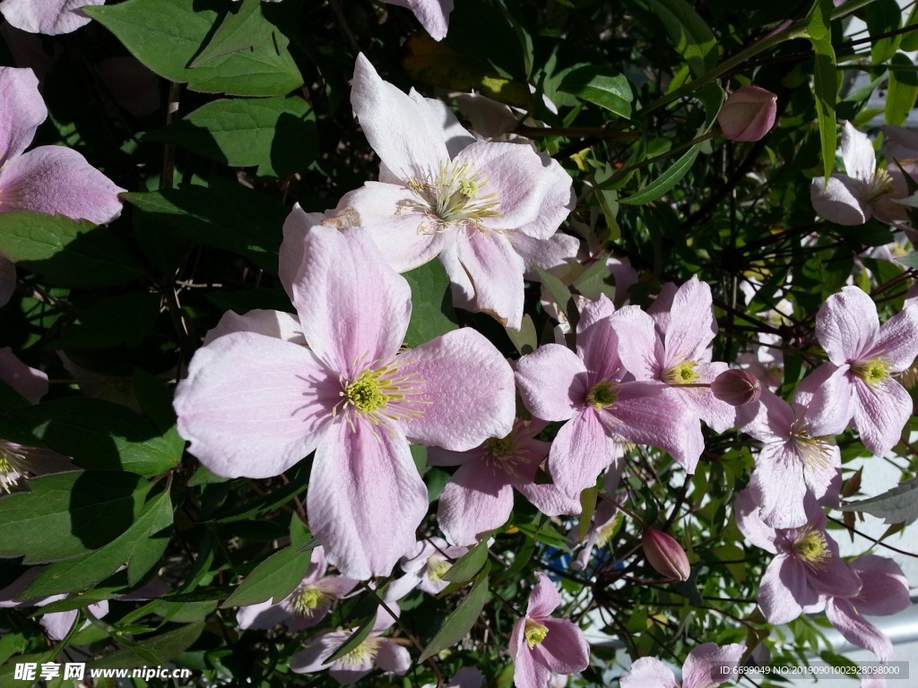
[(548, 471), (555, 487), (570, 499), (596, 483), (615, 457), (599, 413), (586, 408), (565, 423), (552, 442)]

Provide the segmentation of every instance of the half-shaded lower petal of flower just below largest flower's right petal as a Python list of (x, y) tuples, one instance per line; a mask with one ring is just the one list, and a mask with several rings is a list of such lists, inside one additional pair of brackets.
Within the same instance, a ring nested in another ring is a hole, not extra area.
[(501, 527), (513, 509), (513, 488), (490, 461), (466, 463), (443, 488), (437, 523), (453, 545), (474, 545), (480, 535)]

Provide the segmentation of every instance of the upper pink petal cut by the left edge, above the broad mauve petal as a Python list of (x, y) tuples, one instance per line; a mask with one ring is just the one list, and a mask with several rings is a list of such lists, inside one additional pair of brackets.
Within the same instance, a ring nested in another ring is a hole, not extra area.
[[(0, 11), (5, 5), (0, 3)], [(8, 19), (7, 19), (8, 21)], [(6, 161), (17, 158), (26, 150), (39, 124), (48, 117), (48, 110), (39, 94), (39, 80), (28, 69), (0, 67), (0, 168)]]

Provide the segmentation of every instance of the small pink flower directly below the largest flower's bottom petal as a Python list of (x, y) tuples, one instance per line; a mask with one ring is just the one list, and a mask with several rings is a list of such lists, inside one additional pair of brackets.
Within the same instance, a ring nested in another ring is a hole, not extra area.
[(331, 605), (353, 590), (357, 584), (344, 576), (327, 576), (328, 565), (321, 546), (313, 549), (309, 568), (303, 582), (283, 600), (271, 600), (260, 605), (241, 606), (236, 612), (236, 622), (247, 628), (274, 628), (284, 624), (292, 631), (313, 627), (330, 612)]

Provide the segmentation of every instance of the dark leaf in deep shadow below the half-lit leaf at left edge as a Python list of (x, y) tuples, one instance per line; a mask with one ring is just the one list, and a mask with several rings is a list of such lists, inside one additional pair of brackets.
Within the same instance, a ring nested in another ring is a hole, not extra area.
[(132, 349), (150, 333), (160, 314), (159, 294), (129, 292), (95, 303), (65, 329), (53, 349)]

